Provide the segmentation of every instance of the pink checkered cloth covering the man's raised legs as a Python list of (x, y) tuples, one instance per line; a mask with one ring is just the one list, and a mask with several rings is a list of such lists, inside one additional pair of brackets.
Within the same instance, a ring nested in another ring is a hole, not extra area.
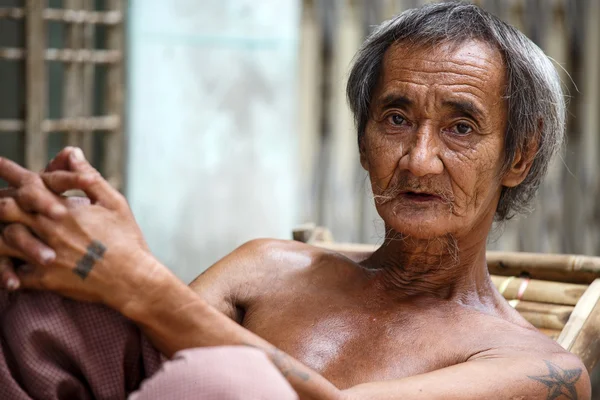
[(51, 293), (0, 291), (0, 399), (129, 395), (133, 400), (297, 398), (256, 349), (191, 349), (165, 362), (133, 323), (107, 307)]

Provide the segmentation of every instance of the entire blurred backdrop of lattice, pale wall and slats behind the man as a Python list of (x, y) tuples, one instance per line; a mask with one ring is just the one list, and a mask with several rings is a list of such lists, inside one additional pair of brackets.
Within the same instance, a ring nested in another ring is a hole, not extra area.
[[(182, 279), (303, 222), (378, 243), (344, 87), (373, 27), (417, 0), (0, 0), (0, 155), (78, 145)], [(600, 255), (600, 4), (477, 2), (556, 61), (568, 144), (490, 249)]]

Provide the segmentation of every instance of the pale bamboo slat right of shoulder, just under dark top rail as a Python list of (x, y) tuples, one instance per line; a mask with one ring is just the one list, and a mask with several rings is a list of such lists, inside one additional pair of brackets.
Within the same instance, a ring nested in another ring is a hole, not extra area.
[(540, 281), (523, 278), (492, 275), (492, 282), (497, 288), (503, 288), (502, 295), (506, 300), (517, 299), (519, 290), (524, 287), (521, 299), (539, 303), (551, 303), (574, 306), (588, 288), (588, 285), (574, 283)]

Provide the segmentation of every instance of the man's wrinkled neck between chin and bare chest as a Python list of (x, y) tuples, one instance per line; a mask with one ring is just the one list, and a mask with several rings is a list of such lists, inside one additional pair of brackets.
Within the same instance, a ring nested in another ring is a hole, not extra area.
[(451, 235), (416, 239), (392, 231), (363, 264), (386, 291), (401, 297), (481, 302), (492, 285), (485, 258), (486, 239), (471, 239)]

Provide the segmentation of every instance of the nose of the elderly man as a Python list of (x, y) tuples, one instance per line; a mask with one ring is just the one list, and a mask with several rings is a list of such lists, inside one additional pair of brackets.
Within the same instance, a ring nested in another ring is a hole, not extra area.
[(400, 168), (415, 176), (438, 175), (444, 170), (439, 157), (440, 146), (431, 127), (422, 127), (416, 132), (408, 152), (400, 159)]

